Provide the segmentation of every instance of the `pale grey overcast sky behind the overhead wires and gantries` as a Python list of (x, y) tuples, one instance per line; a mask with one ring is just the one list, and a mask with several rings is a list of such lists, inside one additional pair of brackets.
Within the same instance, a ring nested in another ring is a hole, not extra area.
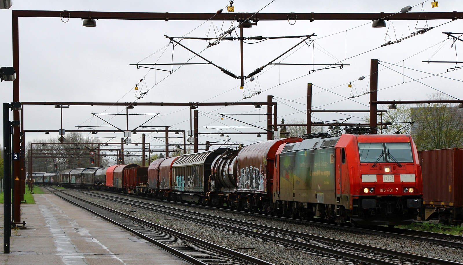
[[(328, 2), (328, 3), (327, 3)], [(235, 13), (379, 13), (400, 12), (404, 6), (414, 6), (412, 11), (451, 12), (463, 11), (463, 1), (440, 0), (432, 8), (431, 0), (248, 0), (234, 1)], [(0, 66), (12, 66), (11, 11), (15, 10), (69, 10), (69, 11), (118, 11), (118, 12), (169, 12), (215, 13), (224, 9), (228, 0), (158, 1), (158, 0), (13, 0), (8, 10), (0, 10)], [(448, 22), (448, 23), (447, 23)], [(137, 102), (254, 102), (267, 101), (275, 96), (278, 103), (278, 122), (282, 117), (305, 120), (307, 83), (313, 83), (313, 109), (368, 110), (369, 95), (348, 99), (369, 91), (370, 59), (381, 61), (378, 74), (378, 100), (426, 100), (428, 95), (444, 92), (461, 99), (462, 70), (447, 72), (455, 67), (451, 63), (422, 63), (422, 61), (462, 61), (462, 43), (447, 39), (442, 32), (462, 32), (463, 20), (387, 21), (385, 28), (372, 28), (371, 21), (260, 21), (257, 26), (244, 29), (244, 36), (295, 36), (310, 35), (314, 42), (302, 43), (275, 63), (344, 63), (344, 69), (333, 68), (309, 74), (312, 66), (269, 65), (246, 80), (245, 89), (240, 81), (225, 75), (212, 65), (157, 66), (160, 70), (136, 69), (130, 63), (204, 63), (180, 46), (173, 47), (165, 35), (173, 37), (216, 37), (228, 30), (229, 21), (142, 21), (98, 20), (96, 27), (82, 27), (81, 19), (19, 18), (20, 100), (21, 101), (86, 101), (132, 102), (141, 92), (147, 92)], [(446, 23), (446, 24), (444, 24)], [(294, 25), (291, 25), (294, 24)], [(236, 26), (237, 24), (235, 24)], [(381, 47), (389, 40), (407, 37), (411, 32), (435, 27), (422, 35), (405, 39), (397, 44)], [(239, 32), (237, 30), (237, 32)], [(236, 37), (233, 33), (232, 36)], [(271, 39), (260, 43), (244, 44), (244, 74), (263, 66), (301, 41), (300, 38)], [(205, 40), (182, 40), (182, 44), (201, 52), (213, 63), (240, 74), (238, 41), (222, 41), (206, 49)], [(252, 41), (250, 41), (252, 43)], [(190, 60), (191, 59), (191, 60)], [(393, 65), (395, 64), (395, 65)], [(457, 65), (460, 66), (461, 64)], [(390, 67), (387, 68), (387, 67)], [(315, 66), (314, 69), (320, 67)], [(433, 76), (438, 75), (439, 76)], [(362, 81), (358, 77), (365, 76)], [(431, 76), (431, 77), (428, 77)], [(425, 78), (426, 77), (426, 78)], [(139, 82), (140, 79), (143, 82)], [(424, 78), (424, 79), (420, 79)], [(412, 81), (420, 79), (419, 82)], [(455, 80), (453, 80), (455, 79)], [(410, 82), (412, 81), (412, 82)], [(348, 87), (349, 82), (352, 88)], [(134, 89), (139, 83), (138, 91)], [(12, 82), (1, 82), (2, 102), (13, 100)], [(255, 92), (260, 95), (243, 99)], [(386, 106), (382, 106), (386, 108)], [(220, 119), (225, 114), (265, 114), (266, 108), (249, 107), (200, 107), (199, 127), (207, 132), (257, 132), (257, 128), (223, 128), (223, 126), (248, 126), (236, 120)], [(109, 129), (102, 120), (91, 113), (125, 113), (125, 107), (79, 107), (63, 109), (63, 128)], [(175, 130), (190, 129), (188, 107), (142, 107), (129, 110), (129, 130), (143, 124)], [(125, 130), (125, 116), (99, 115), (111, 124)], [(230, 115), (234, 119), (265, 127), (264, 115)], [(343, 120), (363, 122), (364, 113), (314, 113), (313, 122)], [(60, 128), (60, 110), (53, 106), (26, 106), (26, 130), (57, 130)], [(222, 127), (206, 129), (208, 127)], [(146, 129), (146, 128), (145, 128)], [(164, 133), (149, 133), (146, 140), (151, 145), (164, 145)], [(1, 135), (3, 136), (3, 134)], [(88, 136), (88, 135), (86, 135)], [(103, 137), (116, 137), (123, 133), (98, 133)], [(177, 137), (171, 133), (171, 137)], [(180, 135), (181, 136), (181, 135)], [(32, 139), (57, 138), (57, 133), (27, 133), (26, 142)], [(65, 136), (66, 137), (66, 136)], [(132, 141), (141, 141), (141, 134)], [(155, 139), (159, 138), (159, 139)], [(223, 141), (219, 135), (201, 135), (200, 143)], [(265, 135), (230, 135), (231, 142), (248, 145), (266, 139)], [(181, 139), (171, 139), (180, 143)], [(2, 142), (3, 143), (3, 142)], [(160, 147), (161, 149), (163, 147)], [(138, 146), (127, 146), (135, 150)]]

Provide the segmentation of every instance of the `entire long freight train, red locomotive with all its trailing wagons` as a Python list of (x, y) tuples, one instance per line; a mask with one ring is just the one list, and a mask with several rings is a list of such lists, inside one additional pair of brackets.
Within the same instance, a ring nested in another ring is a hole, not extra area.
[[(403, 225), (422, 206), (418, 152), (410, 135), (361, 134), (274, 139), (241, 150), (159, 158), (59, 172), (48, 183), (138, 193), (243, 211), (338, 224)], [(89, 174), (88, 176), (91, 176)], [(36, 178), (37, 181), (37, 178)], [(37, 184), (40, 184), (36, 182)]]

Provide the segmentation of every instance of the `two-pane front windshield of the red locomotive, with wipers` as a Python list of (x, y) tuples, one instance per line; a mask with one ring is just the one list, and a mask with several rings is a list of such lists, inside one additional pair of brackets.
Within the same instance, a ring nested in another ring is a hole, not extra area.
[(410, 143), (359, 143), (360, 163), (413, 162)]

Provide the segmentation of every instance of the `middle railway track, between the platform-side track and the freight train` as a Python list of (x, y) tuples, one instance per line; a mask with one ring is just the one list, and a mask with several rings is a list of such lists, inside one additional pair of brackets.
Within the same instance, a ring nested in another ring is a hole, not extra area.
[(130, 205), (132, 208), (142, 208), (145, 210), (156, 211), (164, 215), (175, 216), (193, 222), (200, 222), (211, 229), (229, 231), (229, 233), (242, 233), (246, 237), (257, 237), (261, 240), (272, 240), (278, 244), (288, 247), (296, 247), (301, 251), (316, 255), (329, 255), (330, 259), (335, 259), (343, 263), (352, 261), (362, 264), (460, 264), (443, 259), (435, 259), (415, 255), (406, 252), (399, 252), (375, 246), (368, 246), (344, 240), (325, 238), (322, 236), (289, 231), (287, 229), (267, 227), (255, 223), (237, 221), (213, 215), (206, 215), (188, 210), (171, 208), (149, 202), (140, 202), (122, 198), (120, 196), (108, 196), (95, 194), (94, 192), (82, 192), (91, 196), (98, 197), (112, 202)]

